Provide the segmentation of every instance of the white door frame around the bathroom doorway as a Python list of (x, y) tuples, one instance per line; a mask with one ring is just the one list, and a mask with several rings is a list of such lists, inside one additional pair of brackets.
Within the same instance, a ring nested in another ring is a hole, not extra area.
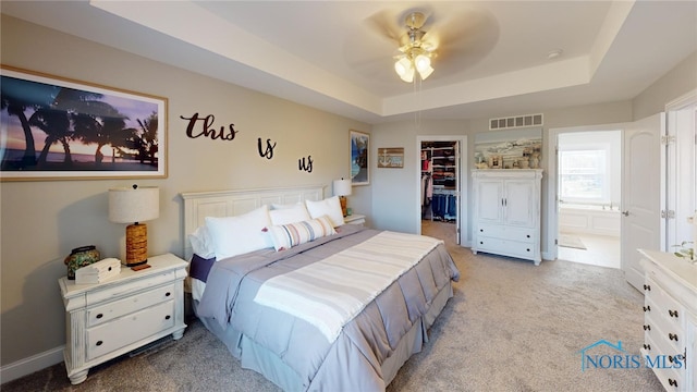
[[(559, 155), (558, 155), (558, 145), (559, 145), (559, 135), (562, 133), (577, 133), (577, 132), (597, 132), (597, 131), (620, 131), (621, 138), (624, 139), (624, 128), (627, 126), (626, 123), (611, 123), (611, 124), (602, 124), (602, 125), (583, 125), (583, 126), (566, 126), (566, 127), (555, 127), (549, 130), (549, 142), (547, 143), (547, 156), (548, 158), (548, 168), (547, 168), (547, 250), (542, 252), (542, 259), (545, 260), (555, 260), (559, 249), (555, 241), (559, 234), (559, 194), (558, 194), (558, 171), (559, 171)], [(622, 151), (622, 157), (624, 157), (624, 151)], [(622, 241), (622, 231), (620, 231), (620, 241)]]

